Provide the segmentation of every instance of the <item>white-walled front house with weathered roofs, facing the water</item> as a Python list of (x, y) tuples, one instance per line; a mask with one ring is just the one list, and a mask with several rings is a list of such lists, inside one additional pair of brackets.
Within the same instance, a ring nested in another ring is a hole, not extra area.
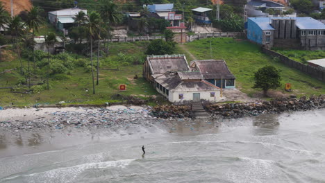
[(143, 76), (172, 103), (220, 101), (221, 89), (191, 69), (185, 55), (152, 55), (144, 62)]

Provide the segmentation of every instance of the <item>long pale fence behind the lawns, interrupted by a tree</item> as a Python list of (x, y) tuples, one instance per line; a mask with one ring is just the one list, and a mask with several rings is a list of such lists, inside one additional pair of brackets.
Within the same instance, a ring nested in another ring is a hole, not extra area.
[[(242, 32), (229, 32), (229, 33), (199, 33), (195, 35), (186, 35), (186, 42), (192, 42), (194, 40), (200, 40), (208, 37), (240, 37), (244, 36)], [(109, 42), (138, 42), (138, 41), (151, 41), (165, 39), (163, 36), (145, 35), (135, 37), (112, 37)]]

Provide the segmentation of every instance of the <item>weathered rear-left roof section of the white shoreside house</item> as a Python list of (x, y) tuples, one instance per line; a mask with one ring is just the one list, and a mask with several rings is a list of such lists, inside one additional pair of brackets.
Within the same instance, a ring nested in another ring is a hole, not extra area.
[(152, 74), (175, 71), (190, 71), (184, 55), (154, 55), (148, 56)]

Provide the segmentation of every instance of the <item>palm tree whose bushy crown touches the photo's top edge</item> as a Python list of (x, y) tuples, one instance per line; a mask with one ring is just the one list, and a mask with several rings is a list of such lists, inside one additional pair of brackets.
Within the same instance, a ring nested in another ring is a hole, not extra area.
[(121, 12), (119, 12), (117, 5), (111, 0), (102, 0), (101, 1), (101, 19), (105, 20), (106, 23), (106, 56), (108, 56), (108, 40), (110, 35), (110, 25), (116, 24), (121, 20)]

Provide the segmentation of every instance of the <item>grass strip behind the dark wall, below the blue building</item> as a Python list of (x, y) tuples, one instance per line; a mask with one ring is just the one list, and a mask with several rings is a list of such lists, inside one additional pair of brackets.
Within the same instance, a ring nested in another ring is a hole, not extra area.
[(308, 50), (286, 50), (286, 49), (274, 49), (274, 51), (287, 56), (288, 58), (307, 64), (308, 60), (316, 60), (325, 58), (325, 51), (308, 51)]

